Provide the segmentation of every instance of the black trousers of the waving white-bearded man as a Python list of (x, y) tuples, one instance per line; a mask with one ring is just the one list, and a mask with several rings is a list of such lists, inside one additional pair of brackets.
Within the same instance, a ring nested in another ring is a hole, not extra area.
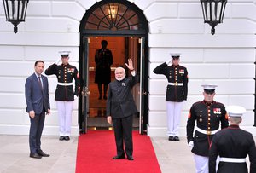
[[(115, 137), (115, 144), (117, 148), (117, 155), (121, 156), (126, 153), (127, 157), (131, 157), (133, 153), (132, 143), (132, 121), (133, 116), (125, 118), (113, 118), (113, 130)], [(125, 141), (125, 152), (124, 152)]]

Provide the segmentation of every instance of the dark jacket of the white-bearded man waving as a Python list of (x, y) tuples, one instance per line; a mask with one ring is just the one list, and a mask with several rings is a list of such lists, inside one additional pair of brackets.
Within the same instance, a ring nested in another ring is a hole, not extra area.
[(125, 118), (137, 113), (131, 94), (131, 89), (135, 84), (137, 84), (137, 74), (121, 81), (114, 80), (109, 84), (107, 116)]

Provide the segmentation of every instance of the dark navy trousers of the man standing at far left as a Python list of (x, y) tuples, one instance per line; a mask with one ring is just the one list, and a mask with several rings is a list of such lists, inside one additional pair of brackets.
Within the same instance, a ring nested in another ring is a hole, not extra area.
[(41, 136), (44, 128), (45, 112), (30, 118), (29, 147), (30, 153), (38, 153), (41, 149)]

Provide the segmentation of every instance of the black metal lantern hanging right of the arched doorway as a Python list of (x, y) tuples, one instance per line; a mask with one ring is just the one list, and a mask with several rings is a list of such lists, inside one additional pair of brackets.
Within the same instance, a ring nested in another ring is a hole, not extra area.
[(201, 8), (205, 23), (212, 26), (212, 35), (215, 34), (215, 26), (222, 23), (227, 0), (201, 0)]

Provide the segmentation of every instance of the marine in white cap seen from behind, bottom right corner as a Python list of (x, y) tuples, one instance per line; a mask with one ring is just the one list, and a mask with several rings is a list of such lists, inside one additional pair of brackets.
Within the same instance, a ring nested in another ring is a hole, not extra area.
[[(240, 106), (227, 107), (230, 126), (213, 136), (209, 153), (209, 173), (247, 173), (246, 157), (249, 156), (250, 172), (256, 172), (256, 147), (251, 133), (241, 130), (241, 116), (246, 109)], [(218, 170), (216, 159), (219, 155)]]

